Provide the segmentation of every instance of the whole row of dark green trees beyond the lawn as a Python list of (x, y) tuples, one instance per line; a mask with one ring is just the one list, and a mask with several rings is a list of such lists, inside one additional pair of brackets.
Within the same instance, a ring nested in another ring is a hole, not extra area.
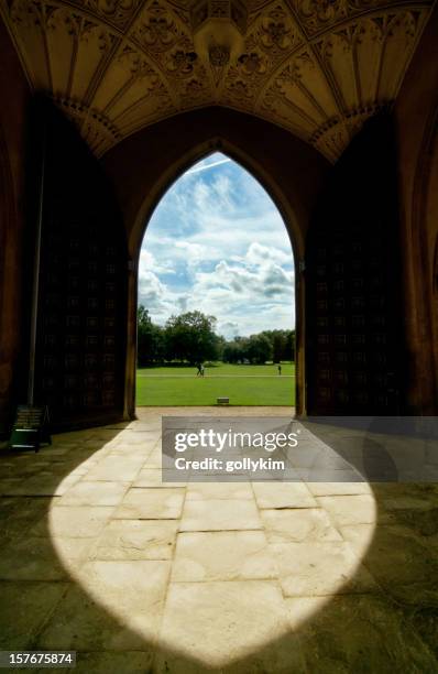
[(152, 322), (147, 309), (138, 308), (139, 367), (169, 361), (190, 365), (210, 360), (263, 363), (295, 360), (295, 330), (263, 330), (227, 340), (217, 335), (215, 316), (187, 312), (171, 316), (164, 326)]

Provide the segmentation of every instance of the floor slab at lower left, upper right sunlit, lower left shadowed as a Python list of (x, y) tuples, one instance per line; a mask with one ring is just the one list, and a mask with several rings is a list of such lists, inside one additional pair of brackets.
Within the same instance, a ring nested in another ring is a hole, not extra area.
[(83, 577), (90, 596), (78, 585), (72, 587), (39, 635), (37, 648), (144, 650), (158, 633), (168, 573), (168, 562), (89, 562)]

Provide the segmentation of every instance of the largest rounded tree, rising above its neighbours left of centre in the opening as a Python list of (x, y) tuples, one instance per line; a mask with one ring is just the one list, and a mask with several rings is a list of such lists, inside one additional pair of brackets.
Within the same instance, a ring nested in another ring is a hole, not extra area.
[(220, 340), (215, 335), (215, 316), (200, 312), (171, 316), (165, 325), (166, 358), (188, 360), (191, 365), (216, 360)]

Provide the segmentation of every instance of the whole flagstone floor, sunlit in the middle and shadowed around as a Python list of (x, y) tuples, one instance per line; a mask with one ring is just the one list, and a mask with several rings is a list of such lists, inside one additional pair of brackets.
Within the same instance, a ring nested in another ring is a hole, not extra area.
[(74, 650), (76, 673), (438, 672), (438, 485), (162, 483), (163, 413), (223, 411), (1, 453), (1, 650)]

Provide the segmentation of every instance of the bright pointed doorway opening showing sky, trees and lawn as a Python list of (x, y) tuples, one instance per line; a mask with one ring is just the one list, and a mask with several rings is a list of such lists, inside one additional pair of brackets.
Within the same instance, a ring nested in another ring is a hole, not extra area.
[(295, 405), (287, 227), (245, 168), (215, 152), (147, 222), (139, 259), (136, 406)]

